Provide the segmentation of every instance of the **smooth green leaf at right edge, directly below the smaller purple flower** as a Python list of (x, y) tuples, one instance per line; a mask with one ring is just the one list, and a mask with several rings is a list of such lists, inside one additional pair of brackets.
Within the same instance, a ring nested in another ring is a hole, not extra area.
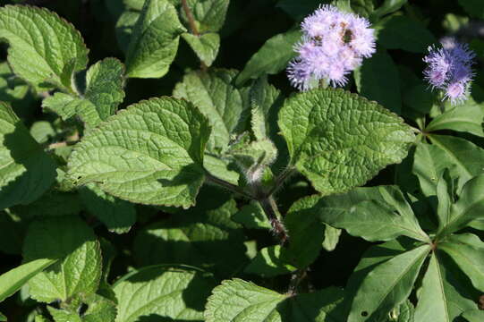
[(438, 115), (427, 125), (425, 131), (454, 130), (465, 131), (480, 137), (484, 137), (482, 120), (484, 111), (476, 105), (456, 106)]

